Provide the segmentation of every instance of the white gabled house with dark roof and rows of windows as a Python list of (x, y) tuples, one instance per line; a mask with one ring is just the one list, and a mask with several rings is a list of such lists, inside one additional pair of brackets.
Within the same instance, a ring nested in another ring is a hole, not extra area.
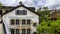
[(39, 14), (34, 7), (26, 7), (20, 2), (17, 7), (1, 8), (1, 34), (37, 34)]

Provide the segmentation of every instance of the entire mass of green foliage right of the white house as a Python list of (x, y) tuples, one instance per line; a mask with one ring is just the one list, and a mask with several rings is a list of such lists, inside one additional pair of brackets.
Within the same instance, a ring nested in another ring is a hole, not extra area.
[[(46, 8), (44, 8), (46, 9)], [(60, 16), (57, 20), (49, 20), (50, 10), (38, 10), (40, 16), (40, 25), (37, 26), (38, 34), (55, 34), (60, 32)]]

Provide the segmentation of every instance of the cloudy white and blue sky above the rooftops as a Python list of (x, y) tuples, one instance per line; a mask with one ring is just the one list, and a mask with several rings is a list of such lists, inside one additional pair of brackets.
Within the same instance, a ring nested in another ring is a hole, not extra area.
[(0, 2), (5, 6), (16, 6), (22, 1), (24, 5), (31, 7), (49, 7), (60, 8), (60, 0), (0, 0)]

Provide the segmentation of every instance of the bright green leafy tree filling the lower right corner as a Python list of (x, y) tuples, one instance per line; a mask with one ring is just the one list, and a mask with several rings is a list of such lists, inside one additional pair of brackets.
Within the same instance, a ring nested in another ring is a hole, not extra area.
[(55, 34), (56, 32), (60, 33), (60, 20), (49, 20), (49, 21), (43, 21), (38, 27), (37, 27), (38, 33), (48, 33), (48, 34)]

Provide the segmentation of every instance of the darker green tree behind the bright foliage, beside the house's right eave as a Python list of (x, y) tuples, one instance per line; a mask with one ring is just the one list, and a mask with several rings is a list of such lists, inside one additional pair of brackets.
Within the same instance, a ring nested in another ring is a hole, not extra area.
[(43, 10), (39, 8), (37, 10), (37, 13), (40, 14), (40, 22), (42, 22), (43, 20), (47, 21), (47, 17), (50, 14), (50, 10), (48, 10), (48, 7), (43, 7)]

